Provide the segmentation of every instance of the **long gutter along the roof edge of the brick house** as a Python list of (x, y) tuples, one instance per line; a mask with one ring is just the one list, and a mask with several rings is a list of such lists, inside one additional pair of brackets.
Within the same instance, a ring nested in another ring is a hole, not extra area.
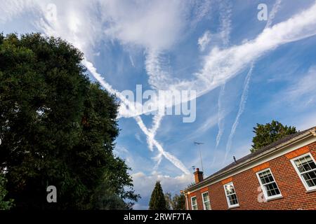
[(236, 165), (235, 167), (231, 167), (223, 172), (220, 172), (219, 174), (216, 174), (216, 176), (209, 176), (208, 178), (204, 179), (202, 182), (197, 183), (195, 186), (192, 186), (190, 188), (186, 188), (185, 190), (181, 190), (180, 192), (187, 193), (187, 191), (195, 190), (196, 188), (202, 187), (203, 185), (206, 185), (207, 183), (210, 183), (212, 181), (216, 181), (216, 179), (220, 179), (220, 177), (223, 177), (226, 174), (229, 174), (230, 172), (232, 172), (236, 169), (239, 169), (239, 168), (242, 168), (246, 165), (249, 165), (249, 163), (254, 162), (256, 160), (259, 160), (259, 159), (265, 157), (266, 155), (270, 155), (270, 154), (275, 153), (279, 150), (282, 150), (286, 146), (289, 146), (290, 144), (294, 144), (296, 141), (303, 140), (303, 139), (309, 137), (310, 135), (316, 137), (316, 127), (314, 127), (312, 130), (304, 132), (301, 135), (298, 135), (297, 137), (294, 137), (293, 139), (289, 139), (289, 141), (286, 141), (282, 144), (279, 144), (275, 147), (272, 147), (272, 148), (268, 149), (267, 151), (264, 151), (263, 153), (256, 155), (254, 158), (249, 158), (249, 160), (246, 160), (246, 161)]

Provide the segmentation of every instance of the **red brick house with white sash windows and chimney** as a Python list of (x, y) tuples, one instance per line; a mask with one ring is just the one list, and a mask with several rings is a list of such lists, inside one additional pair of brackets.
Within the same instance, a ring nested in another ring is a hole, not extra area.
[(316, 209), (316, 127), (291, 134), (182, 190), (192, 210)]

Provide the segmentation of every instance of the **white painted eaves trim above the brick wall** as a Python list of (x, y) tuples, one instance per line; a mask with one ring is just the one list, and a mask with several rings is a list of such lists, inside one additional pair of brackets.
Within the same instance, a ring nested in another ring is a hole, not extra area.
[(239, 167), (233, 167), (231, 170), (228, 170), (224, 174), (222, 175), (218, 174), (218, 176), (214, 177), (214, 179), (210, 181), (206, 181), (205, 183), (202, 183), (202, 185), (199, 186), (199, 188), (195, 188), (194, 190), (187, 190), (187, 191), (184, 190), (184, 191), (186, 191), (188, 194), (196, 192), (197, 190), (201, 190), (207, 186), (211, 186), (214, 183), (218, 183), (220, 181), (228, 179), (230, 176), (235, 176), (236, 174), (245, 172), (246, 170), (252, 169), (265, 162), (269, 162), (270, 160), (279, 158), (282, 155), (290, 153), (291, 151), (295, 151), (298, 148), (312, 144), (315, 141), (316, 141), (316, 137), (313, 137), (312, 135), (308, 136), (305, 139), (302, 139), (300, 142), (293, 143), (290, 146), (284, 146), (284, 148), (280, 148), (277, 151), (272, 151), (268, 155), (263, 155), (260, 158), (253, 158), (252, 160), (247, 160), (246, 162), (240, 164)]

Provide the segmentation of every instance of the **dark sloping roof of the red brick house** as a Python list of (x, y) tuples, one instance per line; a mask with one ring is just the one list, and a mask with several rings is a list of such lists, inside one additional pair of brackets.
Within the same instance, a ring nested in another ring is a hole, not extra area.
[(201, 185), (202, 183), (205, 183), (206, 181), (209, 181), (213, 178), (215, 178), (216, 176), (218, 176), (219, 174), (225, 173), (228, 170), (234, 169), (235, 167), (239, 167), (239, 165), (241, 165), (243, 162), (246, 162), (247, 160), (251, 160), (251, 158), (256, 158), (257, 156), (263, 154), (265, 151), (269, 151), (272, 148), (275, 148), (275, 150), (277, 149), (277, 146), (280, 146), (282, 144), (287, 143), (287, 141), (290, 141), (291, 139), (295, 139), (296, 137), (299, 137), (301, 135), (306, 134), (307, 132), (310, 132), (312, 130), (316, 130), (316, 126), (315, 127), (311, 127), (307, 130), (301, 131), (301, 132), (296, 132), (294, 134), (289, 134), (288, 136), (279, 139), (275, 142), (273, 142), (272, 144), (269, 144), (268, 146), (265, 146), (263, 148), (258, 149), (256, 152), (254, 153), (250, 153), (246, 156), (244, 156), (243, 158), (240, 158), (239, 160), (236, 160), (236, 162), (232, 162), (230, 163), (230, 165), (227, 165), (226, 167), (224, 167), (223, 169), (218, 170), (218, 172), (215, 172), (213, 174), (211, 174), (211, 176), (206, 177), (206, 179), (204, 179), (203, 181), (196, 183), (193, 186), (190, 186), (189, 188), (185, 189), (185, 190), (189, 190), (190, 188), (194, 188), (196, 186)]

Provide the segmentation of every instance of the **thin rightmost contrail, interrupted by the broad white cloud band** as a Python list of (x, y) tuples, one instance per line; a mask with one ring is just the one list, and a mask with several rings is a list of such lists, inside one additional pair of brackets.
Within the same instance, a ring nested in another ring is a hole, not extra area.
[[(277, 11), (279, 10), (279, 7), (282, 3), (282, 0), (277, 0), (275, 2), (275, 4), (272, 7), (271, 13), (269, 14), (269, 18), (267, 23), (265, 24), (265, 29), (270, 27), (270, 25), (272, 25), (272, 20), (275, 18), (275, 15), (277, 14)], [(225, 157), (223, 160), (223, 164), (225, 163), (225, 160), (228, 156), (228, 153), (230, 152), (230, 149), (232, 148), (232, 138), (235, 135), (236, 129), (237, 129), (237, 125), (239, 124), (239, 118), (240, 116), (242, 116), (242, 113), (244, 113), (244, 108), (246, 106), (246, 100), (248, 98), (248, 92), (249, 92), (249, 83), (250, 83), (250, 79), (251, 79), (251, 75), (252, 75), (252, 71), (254, 69), (254, 65), (255, 62), (251, 62), (250, 65), (250, 69), (246, 75), (246, 79), (244, 82), (244, 90), (242, 92), (242, 98), (240, 99), (240, 103), (239, 103), (239, 110), (237, 112), (237, 116), (235, 118), (235, 122), (232, 125), (232, 130), (230, 131), (230, 136), (228, 137), (228, 143), (226, 145), (226, 152), (225, 152)]]

